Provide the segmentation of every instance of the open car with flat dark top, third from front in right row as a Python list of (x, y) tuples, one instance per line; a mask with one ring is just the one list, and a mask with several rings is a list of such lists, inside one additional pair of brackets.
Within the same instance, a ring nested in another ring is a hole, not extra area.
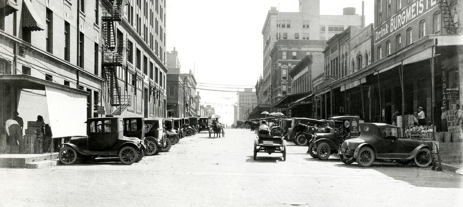
[(291, 118), (291, 136), (288, 134), (288, 138), (299, 146), (304, 146), (309, 143), (319, 128), (326, 125), (326, 122), (310, 119), (310, 118)]

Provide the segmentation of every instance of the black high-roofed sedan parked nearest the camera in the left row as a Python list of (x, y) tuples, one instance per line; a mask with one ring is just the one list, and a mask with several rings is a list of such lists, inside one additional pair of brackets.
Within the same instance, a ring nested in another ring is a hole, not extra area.
[[(58, 153), (61, 163), (74, 164), (100, 156), (119, 156), (122, 164), (132, 164), (138, 159), (137, 154), (146, 150), (143, 140), (124, 136), (122, 117), (89, 118), (86, 123), (87, 136), (73, 137), (61, 144)], [(131, 126), (138, 128), (138, 123), (132, 122)]]

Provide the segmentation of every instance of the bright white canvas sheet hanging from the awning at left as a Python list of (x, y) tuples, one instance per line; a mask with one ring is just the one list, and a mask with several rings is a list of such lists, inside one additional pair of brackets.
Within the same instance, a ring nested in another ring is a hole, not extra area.
[(87, 96), (45, 85), (53, 138), (86, 135)]

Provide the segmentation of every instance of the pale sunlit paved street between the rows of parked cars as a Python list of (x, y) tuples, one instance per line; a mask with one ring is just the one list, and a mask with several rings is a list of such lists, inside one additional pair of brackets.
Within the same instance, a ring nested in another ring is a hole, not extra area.
[[(94, 162), (0, 169), (0, 207), (15, 206), (462, 206), (463, 177), (412, 164), (362, 168), (311, 158), (306, 146), (252, 159), (254, 132), (201, 133), (132, 165)], [(117, 160), (116, 160), (117, 161)]]

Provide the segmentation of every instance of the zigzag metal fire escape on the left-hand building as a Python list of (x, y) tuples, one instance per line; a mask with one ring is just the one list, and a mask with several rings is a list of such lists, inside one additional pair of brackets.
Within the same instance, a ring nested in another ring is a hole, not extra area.
[[(125, 43), (116, 39), (115, 23), (122, 20), (125, 0), (102, 0), (102, 26), (106, 49), (101, 52), (102, 68), (106, 80), (111, 115), (121, 115), (130, 105), (131, 96), (121, 96), (117, 80), (117, 67), (123, 67)], [(114, 109), (115, 107), (115, 109)]]

